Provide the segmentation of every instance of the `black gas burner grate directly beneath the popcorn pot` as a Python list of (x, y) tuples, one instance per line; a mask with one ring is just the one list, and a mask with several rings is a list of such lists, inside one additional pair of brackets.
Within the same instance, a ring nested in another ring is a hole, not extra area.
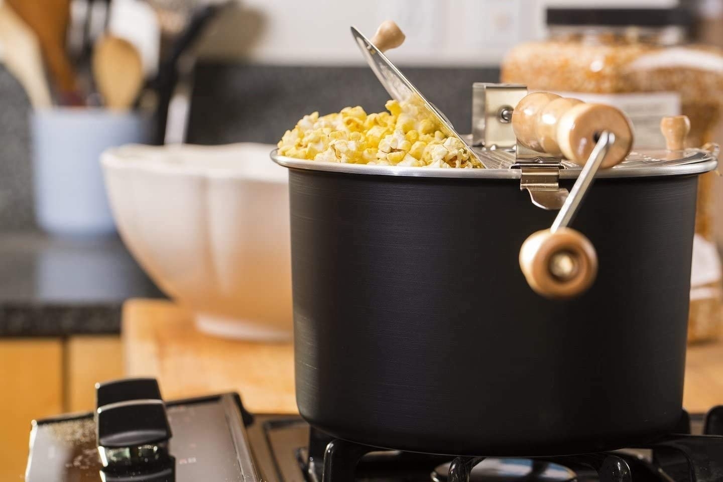
[(450, 457), (384, 450), (309, 429), (296, 452), (307, 482), (720, 482), (723, 405), (696, 421), (688, 413), (677, 431), (636, 449), (535, 458)]

